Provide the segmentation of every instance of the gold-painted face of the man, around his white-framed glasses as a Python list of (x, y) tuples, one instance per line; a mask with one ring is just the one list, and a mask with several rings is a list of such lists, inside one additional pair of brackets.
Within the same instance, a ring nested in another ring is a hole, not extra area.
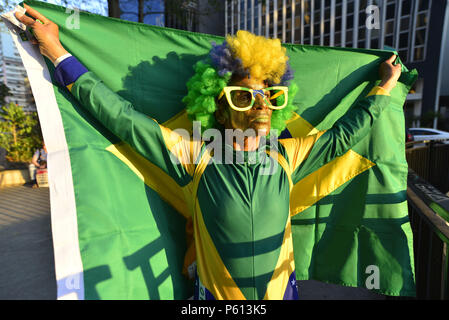
[[(235, 79), (229, 85), (255, 90), (267, 87), (263, 80), (248, 77)], [(257, 135), (268, 135), (271, 128), (273, 110), (268, 108), (261, 95), (256, 95), (253, 107), (247, 111), (236, 111), (229, 107), (226, 98), (223, 99), (224, 101), (220, 103), (219, 110), (216, 113), (216, 119), (225, 129), (241, 129), (242, 131), (253, 129)]]

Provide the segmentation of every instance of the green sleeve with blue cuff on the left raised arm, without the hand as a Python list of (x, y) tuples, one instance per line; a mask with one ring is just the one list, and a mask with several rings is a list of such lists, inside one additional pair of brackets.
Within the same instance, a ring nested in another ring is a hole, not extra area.
[[(132, 103), (111, 90), (75, 57), (68, 57), (58, 64), (55, 78), (104, 127), (168, 173), (176, 182), (185, 185), (186, 180), (191, 179), (186, 168), (186, 163), (190, 165), (190, 162), (182, 158), (189, 156), (191, 149), (188, 140), (135, 110)], [(171, 148), (181, 148), (182, 152), (178, 154)], [(172, 151), (179, 158), (179, 163), (167, 160), (171, 159)]]

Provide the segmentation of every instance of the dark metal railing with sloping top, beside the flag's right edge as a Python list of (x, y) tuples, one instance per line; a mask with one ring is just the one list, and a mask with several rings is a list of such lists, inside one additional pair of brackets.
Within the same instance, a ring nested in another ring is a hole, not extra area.
[(409, 171), (417, 299), (449, 299), (449, 197)]

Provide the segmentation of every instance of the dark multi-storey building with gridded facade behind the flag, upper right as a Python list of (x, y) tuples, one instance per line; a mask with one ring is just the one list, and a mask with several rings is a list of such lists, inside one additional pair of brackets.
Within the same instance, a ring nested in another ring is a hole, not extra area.
[(404, 107), (407, 126), (436, 128), (447, 101), (440, 94), (449, 90), (441, 78), (448, 7), (447, 0), (227, 0), (225, 29), (295, 44), (395, 49), (419, 72)]

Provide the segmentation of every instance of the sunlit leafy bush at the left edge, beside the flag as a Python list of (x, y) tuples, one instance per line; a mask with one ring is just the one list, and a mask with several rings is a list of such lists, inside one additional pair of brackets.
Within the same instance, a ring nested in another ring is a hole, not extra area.
[(10, 162), (29, 162), (42, 145), (37, 114), (26, 113), (15, 103), (0, 109), (0, 147)]

